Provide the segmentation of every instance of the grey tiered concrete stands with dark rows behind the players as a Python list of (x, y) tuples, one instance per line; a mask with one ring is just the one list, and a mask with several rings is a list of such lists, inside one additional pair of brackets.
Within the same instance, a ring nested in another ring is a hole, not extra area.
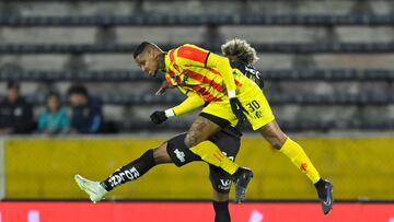
[[(83, 82), (125, 130), (152, 128), (147, 113), (183, 97), (153, 95), (163, 79), (152, 81), (137, 71), (130, 56), (136, 45), (149, 37), (163, 49), (195, 43), (220, 52), (225, 39), (241, 37), (262, 58), (256, 66), (283, 128), (394, 128), (390, 1), (357, 7), (351, 0), (309, 1), (304, 8), (286, 0), (234, 1), (223, 13), (217, 13), (225, 2), (220, 0), (188, 1), (175, 10), (179, 1), (30, 2), (0, 4), (7, 12), (0, 16), (0, 81), (30, 83), (24, 93), (37, 107), (45, 98), (38, 90), (43, 82), (62, 93), (72, 82)], [(167, 15), (172, 11), (177, 13)], [(370, 109), (376, 110), (372, 117)], [(160, 129), (185, 129), (192, 118)]]

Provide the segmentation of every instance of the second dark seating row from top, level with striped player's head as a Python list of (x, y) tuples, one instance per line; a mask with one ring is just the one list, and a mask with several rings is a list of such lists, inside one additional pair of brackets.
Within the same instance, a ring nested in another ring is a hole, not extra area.
[[(195, 43), (198, 44), (198, 43)], [(258, 52), (263, 54), (369, 54), (393, 52), (394, 43), (318, 43), (318, 44), (256, 44), (251, 43)], [(198, 44), (212, 51), (220, 51), (220, 45)], [(1, 45), (0, 54), (131, 54), (136, 44), (109, 45), (69, 45), (69, 44), (10, 44)], [(176, 47), (177, 44), (161, 44), (163, 49)]]

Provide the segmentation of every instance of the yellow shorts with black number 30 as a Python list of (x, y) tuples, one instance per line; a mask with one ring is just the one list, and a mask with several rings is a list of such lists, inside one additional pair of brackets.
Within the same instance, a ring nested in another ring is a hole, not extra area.
[[(242, 106), (248, 112), (245, 114), (251, 122), (253, 130), (257, 130), (275, 119), (273, 110), (263, 91), (253, 81), (246, 81), (240, 89), (237, 98)], [(231, 126), (236, 126), (239, 119), (232, 113), (230, 101), (211, 102), (201, 113), (207, 113), (230, 121)]]

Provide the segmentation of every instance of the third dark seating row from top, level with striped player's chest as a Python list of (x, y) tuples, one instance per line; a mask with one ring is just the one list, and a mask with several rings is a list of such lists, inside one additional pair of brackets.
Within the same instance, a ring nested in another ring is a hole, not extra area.
[[(394, 81), (394, 70), (387, 69), (309, 69), (262, 70), (266, 81)], [(0, 70), (0, 81), (161, 81), (150, 79), (139, 70)]]

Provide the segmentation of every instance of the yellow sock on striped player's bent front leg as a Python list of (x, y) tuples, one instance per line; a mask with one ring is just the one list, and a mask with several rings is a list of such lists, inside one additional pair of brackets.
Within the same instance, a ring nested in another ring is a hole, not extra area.
[(239, 165), (225, 156), (211, 141), (202, 141), (190, 148), (190, 151), (199, 155), (205, 162), (224, 170), (230, 175), (233, 175), (239, 168)]

